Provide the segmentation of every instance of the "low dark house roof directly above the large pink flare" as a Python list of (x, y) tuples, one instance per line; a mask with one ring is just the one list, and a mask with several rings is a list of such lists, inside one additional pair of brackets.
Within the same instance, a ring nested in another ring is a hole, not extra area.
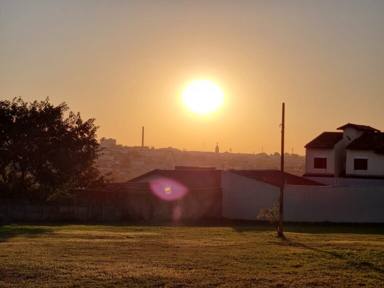
[(191, 189), (221, 188), (221, 170), (162, 170), (154, 169), (127, 182), (137, 182), (147, 176), (158, 174), (177, 180)]

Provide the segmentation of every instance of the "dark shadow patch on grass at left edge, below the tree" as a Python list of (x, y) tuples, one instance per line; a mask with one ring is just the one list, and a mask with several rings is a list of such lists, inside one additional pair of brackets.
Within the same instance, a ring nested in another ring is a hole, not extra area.
[(10, 238), (25, 236), (28, 238), (36, 237), (39, 234), (51, 233), (52, 229), (32, 225), (0, 225), (0, 242), (5, 242)]

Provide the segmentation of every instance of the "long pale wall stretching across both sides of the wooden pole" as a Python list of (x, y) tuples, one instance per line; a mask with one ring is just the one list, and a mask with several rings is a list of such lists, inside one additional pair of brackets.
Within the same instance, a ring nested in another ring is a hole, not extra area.
[[(226, 171), (221, 181), (223, 217), (255, 220), (260, 209), (278, 200), (278, 187)], [(384, 185), (286, 185), (284, 221), (384, 223)]]

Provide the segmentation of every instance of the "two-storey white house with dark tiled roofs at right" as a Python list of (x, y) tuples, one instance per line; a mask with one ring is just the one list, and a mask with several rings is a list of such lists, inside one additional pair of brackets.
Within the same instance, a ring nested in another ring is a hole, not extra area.
[(384, 133), (347, 123), (305, 145), (305, 174), (319, 177), (384, 177)]

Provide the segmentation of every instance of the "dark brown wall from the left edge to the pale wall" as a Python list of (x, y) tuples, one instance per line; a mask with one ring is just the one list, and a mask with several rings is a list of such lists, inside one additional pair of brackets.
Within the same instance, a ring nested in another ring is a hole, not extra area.
[(221, 189), (190, 189), (165, 201), (151, 191), (79, 190), (76, 200), (30, 202), (0, 199), (0, 221), (126, 221), (221, 218)]

